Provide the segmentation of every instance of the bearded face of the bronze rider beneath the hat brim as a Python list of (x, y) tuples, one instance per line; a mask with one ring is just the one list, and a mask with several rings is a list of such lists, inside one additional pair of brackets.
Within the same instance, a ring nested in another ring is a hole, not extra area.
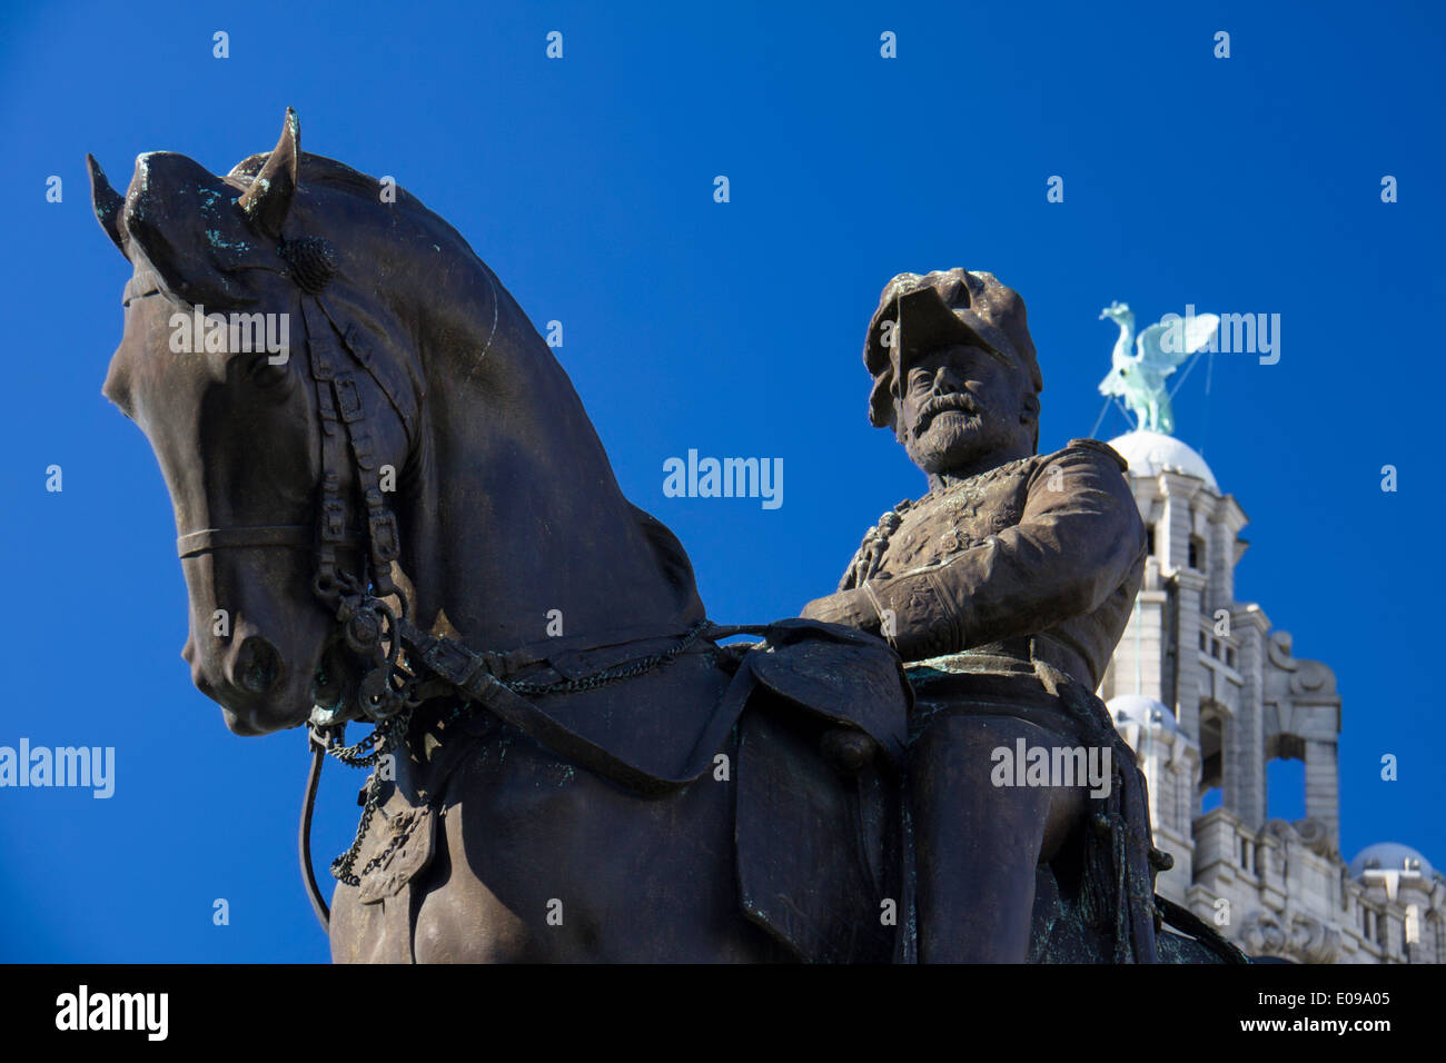
[(1021, 421), (1021, 388), (1017, 369), (983, 347), (921, 354), (898, 404), (910, 460), (925, 473), (949, 473), (993, 451), (1024, 445), (1030, 453), (1032, 428)]

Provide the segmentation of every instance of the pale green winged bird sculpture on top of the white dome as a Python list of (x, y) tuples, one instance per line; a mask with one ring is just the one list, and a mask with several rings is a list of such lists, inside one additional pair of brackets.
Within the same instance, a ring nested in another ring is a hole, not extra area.
[[(1119, 338), (1115, 340), (1115, 350), (1109, 356), (1109, 376), (1100, 380), (1099, 393), (1124, 399), (1135, 415), (1137, 430), (1173, 434), (1174, 414), (1170, 409), (1165, 377), (1187, 357), (1206, 349), (1220, 318), (1215, 314), (1183, 318), (1167, 314), (1138, 337), (1135, 315), (1128, 304), (1109, 304), (1099, 314), (1100, 321), (1105, 318), (1119, 325)], [(1129, 353), (1131, 340), (1135, 341), (1135, 354)]]

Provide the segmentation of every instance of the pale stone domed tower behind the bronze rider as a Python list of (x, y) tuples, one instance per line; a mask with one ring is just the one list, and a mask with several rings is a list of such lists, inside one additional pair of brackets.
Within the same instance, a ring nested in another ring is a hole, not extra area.
[[(1145, 428), (1111, 445), (1129, 461), (1150, 557), (1100, 697), (1148, 778), (1155, 846), (1174, 856), (1157, 891), (1251, 956), (1446, 963), (1446, 878), (1397, 842), (1342, 858), (1336, 678), (1236, 597), (1245, 511), (1129, 405)], [(1267, 814), (1277, 758), (1304, 761), (1304, 819)]]

